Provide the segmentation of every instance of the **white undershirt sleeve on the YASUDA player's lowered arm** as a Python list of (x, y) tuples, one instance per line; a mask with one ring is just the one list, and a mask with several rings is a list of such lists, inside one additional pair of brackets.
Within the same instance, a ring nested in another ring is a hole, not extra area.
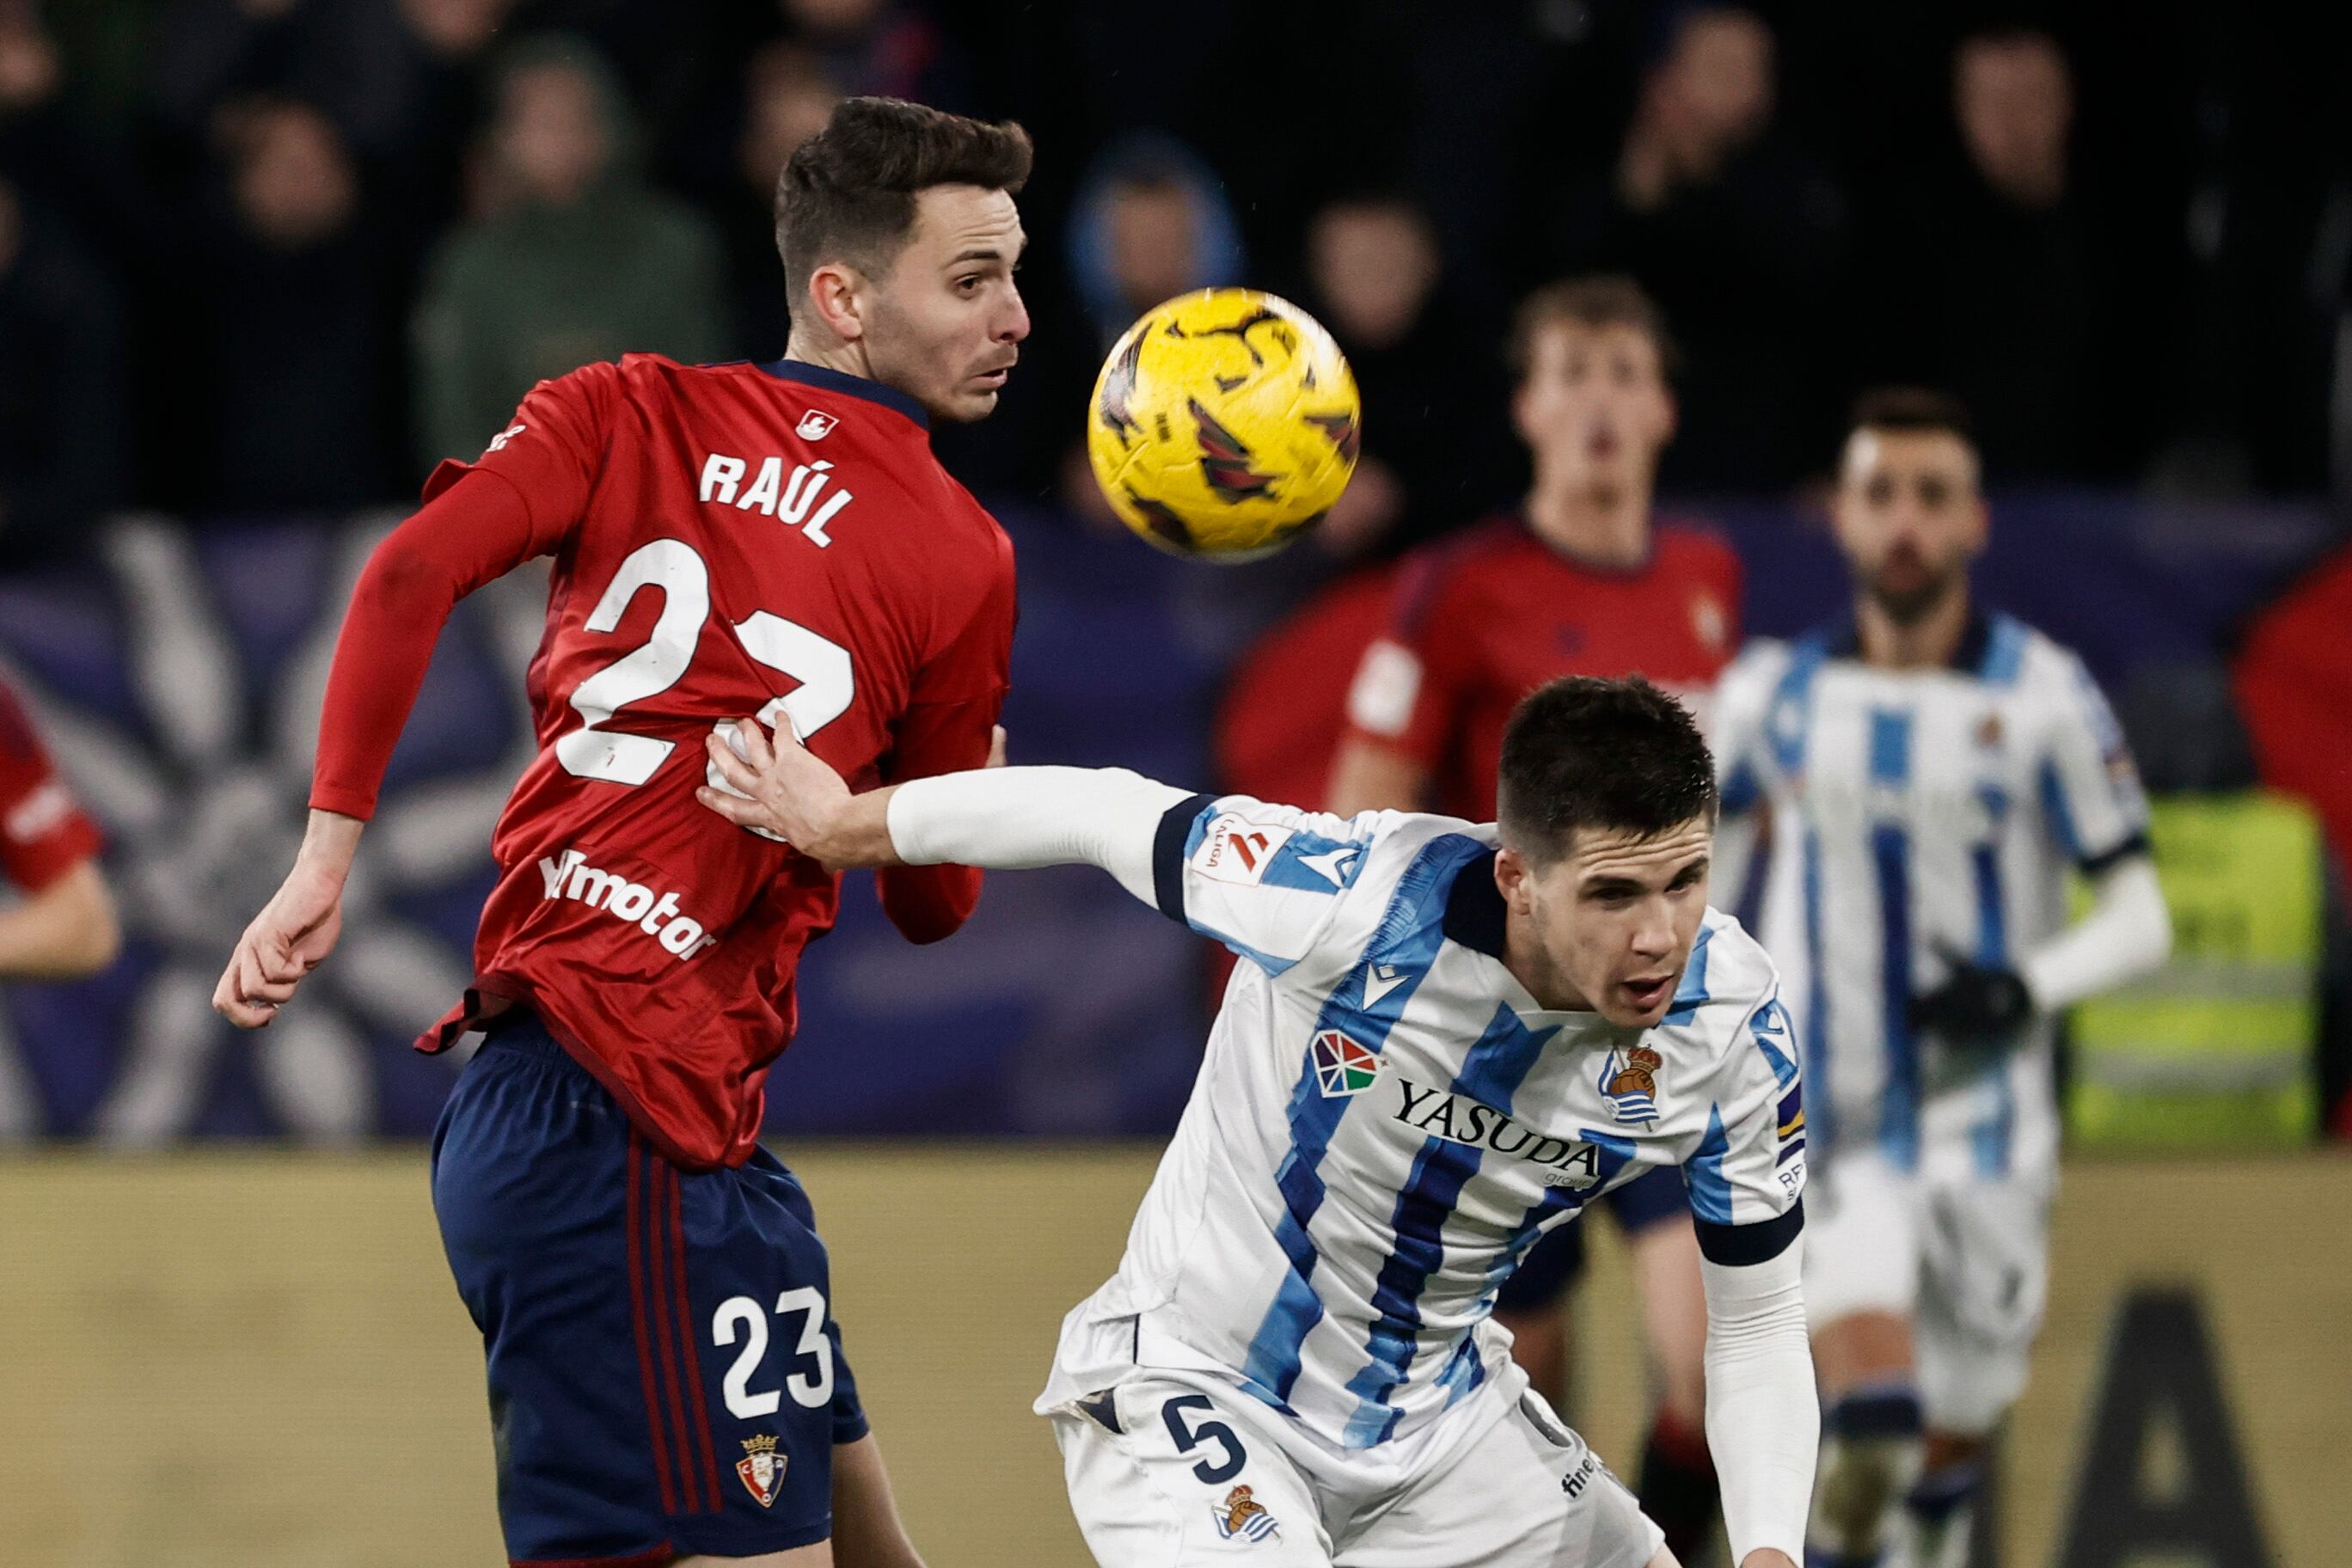
[(1804, 1561), (1820, 1403), (1804, 1333), (1804, 1237), (1748, 1265), (1700, 1260), (1708, 1286), (1708, 1448), (1731, 1561), (1778, 1547)]

